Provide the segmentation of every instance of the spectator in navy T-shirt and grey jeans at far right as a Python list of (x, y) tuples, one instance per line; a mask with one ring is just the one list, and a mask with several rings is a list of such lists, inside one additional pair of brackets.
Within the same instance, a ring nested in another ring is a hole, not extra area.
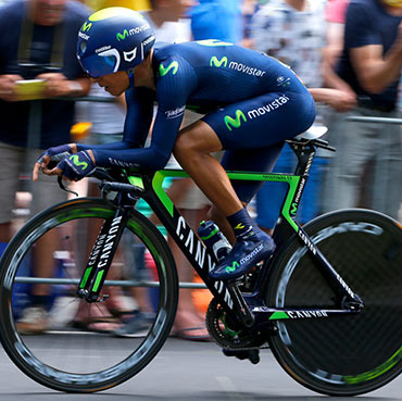
[[(363, 184), (369, 189), (366, 206), (398, 218), (402, 191), (401, 128), (379, 122), (350, 122), (348, 117), (399, 116), (401, 21), (401, 2), (350, 2), (336, 72), (357, 93), (359, 106), (338, 115), (330, 126), (337, 153), (325, 180), (325, 211), (361, 205)], [(367, 165), (372, 165), (373, 174), (365, 176)]]

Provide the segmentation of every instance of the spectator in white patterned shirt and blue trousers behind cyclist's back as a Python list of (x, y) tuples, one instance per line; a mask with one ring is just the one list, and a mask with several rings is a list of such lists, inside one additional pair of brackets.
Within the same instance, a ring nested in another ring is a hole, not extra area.
[[(353, 99), (346, 98), (343, 92), (322, 88), (322, 49), (325, 37), (323, 1), (273, 0), (262, 7), (252, 20), (251, 42), (256, 50), (288, 64), (309, 88), (314, 88), (311, 91), (316, 101), (344, 110), (353, 104)], [(315, 125), (323, 124), (322, 109), (317, 104)], [(302, 223), (315, 217), (321, 211), (319, 193), (325, 162), (326, 159), (318, 153), (312, 164), (300, 210)], [(293, 173), (296, 165), (294, 153), (285, 145), (274, 172)], [(269, 233), (278, 218), (286, 190), (287, 185), (267, 183), (256, 195), (256, 221)]]

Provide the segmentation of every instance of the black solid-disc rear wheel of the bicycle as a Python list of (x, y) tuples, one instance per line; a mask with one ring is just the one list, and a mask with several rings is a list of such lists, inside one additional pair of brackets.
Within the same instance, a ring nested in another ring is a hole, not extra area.
[[(402, 371), (402, 227), (377, 212), (344, 210), (303, 228), (362, 298), (364, 310), (276, 321), (272, 351), (286, 372), (314, 391), (373, 391)], [(278, 254), (265, 295), (274, 308), (335, 308), (334, 292), (296, 236)]]

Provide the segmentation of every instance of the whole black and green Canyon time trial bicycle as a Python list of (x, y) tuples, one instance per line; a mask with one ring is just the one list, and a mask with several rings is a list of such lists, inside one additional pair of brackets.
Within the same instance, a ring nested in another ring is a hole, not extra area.
[[(306, 135), (288, 143), (298, 156), (294, 175), (228, 172), (230, 179), (288, 185), (275, 253), (235, 283), (208, 277), (217, 263), (213, 252), (163, 189), (166, 178), (186, 176), (181, 171), (98, 168), (103, 199), (74, 199), (33, 217), (0, 262), (0, 338), (15, 365), (52, 389), (91, 392), (122, 384), (156, 355), (175, 318), (178, 279), (163, 234), (136, 208), (145, 200), (211, 291), (206, 326), (227, 354), (256, 363), (259, 351), (269, 348), (297, 381), (330, 396), (364, 393), (395, 378), (402, 371), (402, 227), (359, 209), (300, 226), (294, 217), (316, 148), (332, 148)], [(93, 227), (99, 235), (89, 249), (83, 243)], [(47, 275), (36, 262), (46, 236), (58, 238)], [(146, 275), (110, 279), (118, 261)], [(53, 297), (49, 310), (56, 323), (42, 336), (28, 336), (17, 319), (38, 283)], [(122, 339), (63, 321), (77, 303), (106, 304), (105, 286), (131, 289), (138, 303), (140, 297), (151, 300), (149, 327)]]

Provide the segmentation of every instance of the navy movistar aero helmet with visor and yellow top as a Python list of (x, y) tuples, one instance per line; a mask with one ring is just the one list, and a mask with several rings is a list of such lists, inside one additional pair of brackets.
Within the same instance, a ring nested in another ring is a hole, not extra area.
[(140, 64), (155, 42), (148, 21), (122, 7), (99, 10), (78, 33), (77, 58), (93, 78)]

